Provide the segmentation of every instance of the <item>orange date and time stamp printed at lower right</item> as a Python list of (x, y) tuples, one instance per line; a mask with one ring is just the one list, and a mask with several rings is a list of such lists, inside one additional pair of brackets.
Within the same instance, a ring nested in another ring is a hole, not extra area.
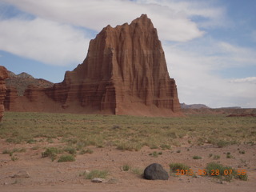
[(211, 176), (218, 176), (218, 175), (230, 175), (230, 174), (237, 174), (237, 175), (246, 175), (246, 170), (210, 170), (210, 173), (206, 170), (176, 170), (176, 175), (211, 175)]

